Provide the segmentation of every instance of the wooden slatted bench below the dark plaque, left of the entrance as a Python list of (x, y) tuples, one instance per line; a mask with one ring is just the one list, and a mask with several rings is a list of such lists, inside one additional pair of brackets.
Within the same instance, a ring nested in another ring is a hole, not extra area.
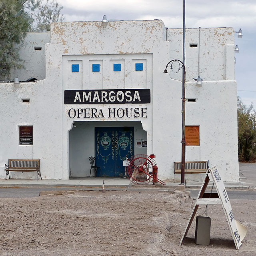
[(40, 159), (9, 159), (8, 165), (5, 164), (5, 179), (7, 175), (10, 179), (10, 172), (37, 172), (37, 180), (40, 175)]

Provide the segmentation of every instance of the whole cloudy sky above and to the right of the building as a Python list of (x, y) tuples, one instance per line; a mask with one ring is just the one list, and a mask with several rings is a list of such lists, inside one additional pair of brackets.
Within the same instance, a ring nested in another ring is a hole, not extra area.
[[(65, 21), (163, 20), (168, 28), (182, 28), (183, 0), (57, 0), (63, 6)], [(256, 108), (254, 64), (256, 60), (256, 0), (186, 0), (186, 27), (242, 28), (243, 38), (235, 36), (238, 96)]]

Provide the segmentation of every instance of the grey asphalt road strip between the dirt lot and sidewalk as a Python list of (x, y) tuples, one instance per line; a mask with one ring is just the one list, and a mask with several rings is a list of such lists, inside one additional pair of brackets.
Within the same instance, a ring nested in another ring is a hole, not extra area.
[[(26, 198), (26, 197), (37, 197), (41, 191), (49, 190), (79, 190), (81, 188), (76, 187), (26, 187), (26, 188), (0, 188), (0, 198)], [(97, 188), (96, 190), (99, 190)], [(196, 198), (198, 196), (198, 189), (188, 189), (191, 192), (191, 197)], [(210, 192), (210, 191), (207, 191)], [(230, 199), (256, 199), (255, 190), (227, 190), (228, 197)]]

